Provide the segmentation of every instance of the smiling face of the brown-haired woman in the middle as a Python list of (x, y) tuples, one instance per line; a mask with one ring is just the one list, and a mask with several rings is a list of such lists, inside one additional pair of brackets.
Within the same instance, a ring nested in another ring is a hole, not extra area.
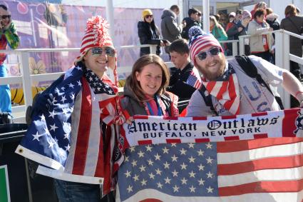
[(163, 72), (157, 64), (143, 66), (141, 72), (135, 72), (137, 81), (145, 95), (153, 97), (162, 84)]

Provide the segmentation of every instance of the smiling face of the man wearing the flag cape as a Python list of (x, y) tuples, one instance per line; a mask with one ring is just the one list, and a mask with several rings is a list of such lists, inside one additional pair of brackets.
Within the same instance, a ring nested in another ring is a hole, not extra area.
[(102, 53), (101, 51), (96, 52), (93, 49), (90, 49), (86, 55), (83, 56), (83, 62), (86, 65), (86, 68), (91, 69), (91, 71), (97, 74), (100, 79), (108, 69), (109, 64), (112, 64), (115, 60), (115, 56), (108, 56), (108, 54), (106, 54), (107, 48), (108, 47), (103, 46)]

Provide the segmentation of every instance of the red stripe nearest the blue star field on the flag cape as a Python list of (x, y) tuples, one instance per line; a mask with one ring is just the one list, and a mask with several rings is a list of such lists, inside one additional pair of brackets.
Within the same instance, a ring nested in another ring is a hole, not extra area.
[[(77, 143), (75, 149), (75, 158), (73, 159), (73, 171), (75, 175), (83, 175), (86, 166), (86, 152), (88, 148), (88, 138), (91, 131), (91, 90), (88, 82), (82, 80), (82, 103), (81, 103), (81, 116), (79, 121)], [(84, 123), (84, 124), (83, 124)]]

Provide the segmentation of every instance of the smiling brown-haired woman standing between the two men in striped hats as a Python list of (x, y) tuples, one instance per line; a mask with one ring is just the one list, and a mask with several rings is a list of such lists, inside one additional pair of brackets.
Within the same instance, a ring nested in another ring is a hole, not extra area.
[(130, 116), (178, 116), (178, 96), (165, 91), (169, 81), (168, 67), (159, 56), (141, 56), (126, 79), (123, 108)]

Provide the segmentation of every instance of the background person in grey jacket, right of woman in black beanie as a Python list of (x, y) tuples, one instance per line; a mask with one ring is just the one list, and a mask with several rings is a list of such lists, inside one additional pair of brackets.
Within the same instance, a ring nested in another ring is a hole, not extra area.
[[(170, 6), (170, 9), (164, 9), (161, 16), (161, 31), (164, 39), (173, 42), (176, 39), (182, 39), (181, 33), (183, 28), (186, 26), (185, 21), (183, 24), (177, 24), (177, 17), (180, 14), (179, 6)], [(169, 47), (165, 46), (165, 52), (169, 54)]]

